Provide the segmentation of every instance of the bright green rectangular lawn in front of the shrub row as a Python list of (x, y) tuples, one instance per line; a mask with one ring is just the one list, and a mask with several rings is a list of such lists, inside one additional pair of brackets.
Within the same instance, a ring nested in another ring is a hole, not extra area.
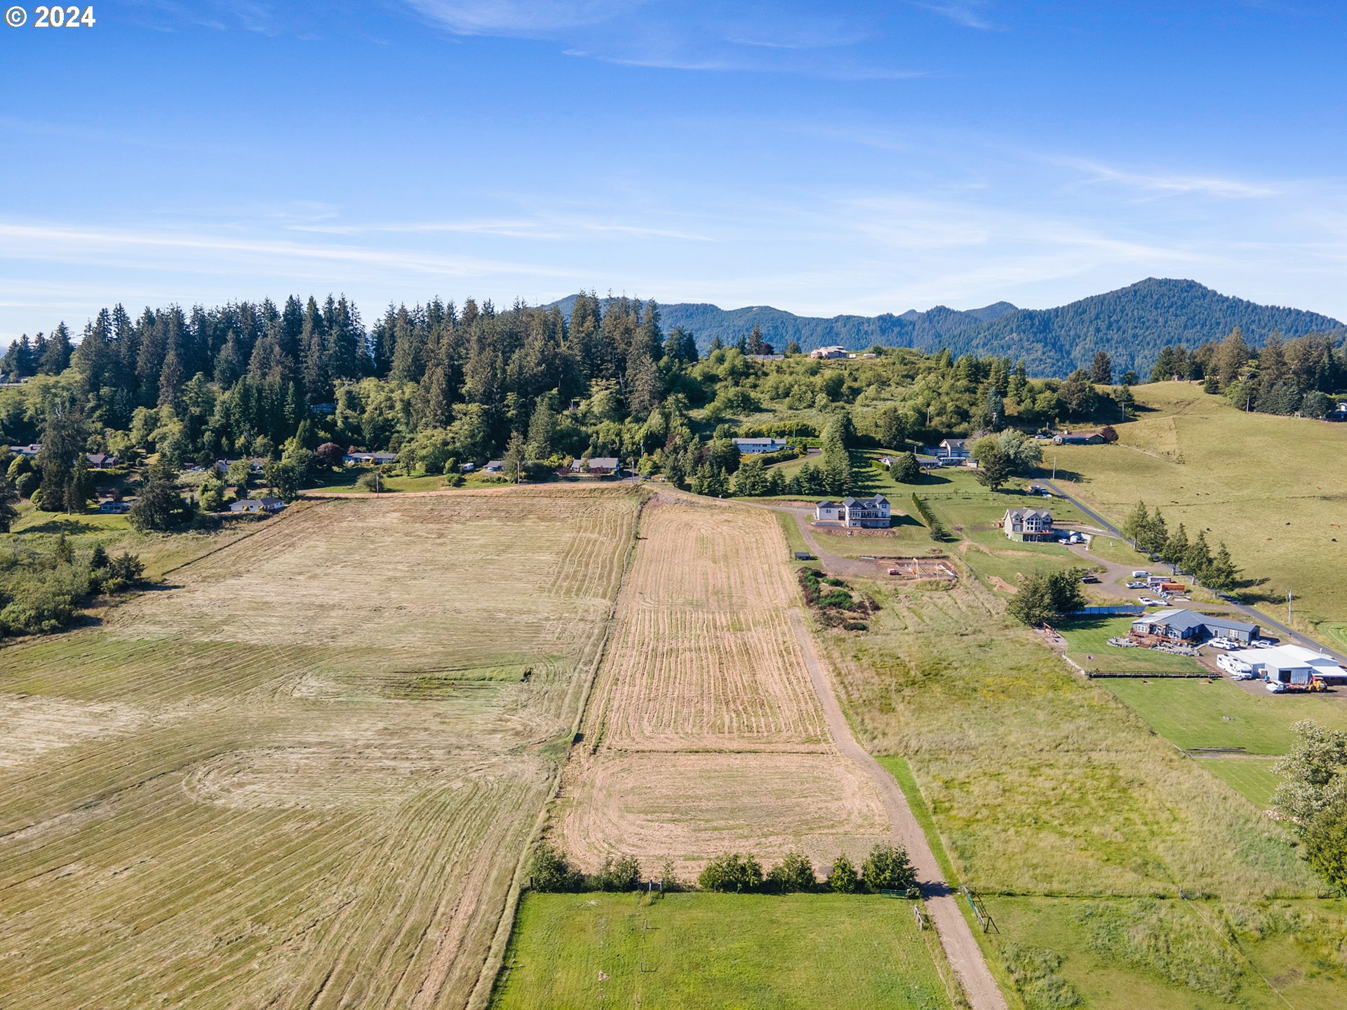
[(882, 897), (528, 894), (497, 1010), (938, 1010), (932, 931)]

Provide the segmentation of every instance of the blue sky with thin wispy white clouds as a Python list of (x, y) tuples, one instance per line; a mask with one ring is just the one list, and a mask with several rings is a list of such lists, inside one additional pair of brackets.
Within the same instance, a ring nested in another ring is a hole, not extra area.
[(1145, 276), (1347, 319), (1336, 1), (94, 13), (0, 28), (0, 339), (119, 300), (873, 314)]

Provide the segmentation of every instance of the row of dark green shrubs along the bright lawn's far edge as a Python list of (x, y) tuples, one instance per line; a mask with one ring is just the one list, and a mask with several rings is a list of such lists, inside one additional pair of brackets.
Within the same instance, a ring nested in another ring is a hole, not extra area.
[[(533, 852), (528, 873), (531, 886), (537, 891), (629, 891), (637, 890), (643, 879), (641, 865), (634, 856), (609, 856), (598, 873), (585, 874), (571, 866), (566, 855), (550, 842), (544, 842)], [(665, 890), (679, 887), (671, 862), (665, 861), (660, 879)], [(698, 874), (696, 886), (738, 894), (908, 891), (916, 886), (916, 871), (907, 851), (897, 846), (874, 846), (859, 870), (842, 852), (832, 861), (822, 881), (814, 863), (800, 851), (787, 852), (770, 870), (764, 870), (753, 855), (727, 852), (706, 865)]]

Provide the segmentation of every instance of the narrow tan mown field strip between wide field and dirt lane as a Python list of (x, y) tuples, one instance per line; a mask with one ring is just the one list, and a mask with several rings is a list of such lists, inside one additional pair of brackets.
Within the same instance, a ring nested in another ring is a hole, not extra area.
[(711, 856), (818, 865), (889, 835), (831, 739), (772, 513), (684, 500), (641, 514), (617, 626), (567, 766), (558, 835), (586, 869), (630, 852), (692, 874)]

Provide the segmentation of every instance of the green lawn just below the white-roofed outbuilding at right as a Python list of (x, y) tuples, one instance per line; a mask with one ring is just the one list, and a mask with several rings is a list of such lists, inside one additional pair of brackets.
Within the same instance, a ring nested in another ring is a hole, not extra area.
[(1242, 747), (1249, 754), (1285, 754), (1292, 726), (1313, 719), (1347, 730), (1347, 691), (1273, 695), (1230, 680), (1099, 680), (1156, 733), (1177, 747)]

